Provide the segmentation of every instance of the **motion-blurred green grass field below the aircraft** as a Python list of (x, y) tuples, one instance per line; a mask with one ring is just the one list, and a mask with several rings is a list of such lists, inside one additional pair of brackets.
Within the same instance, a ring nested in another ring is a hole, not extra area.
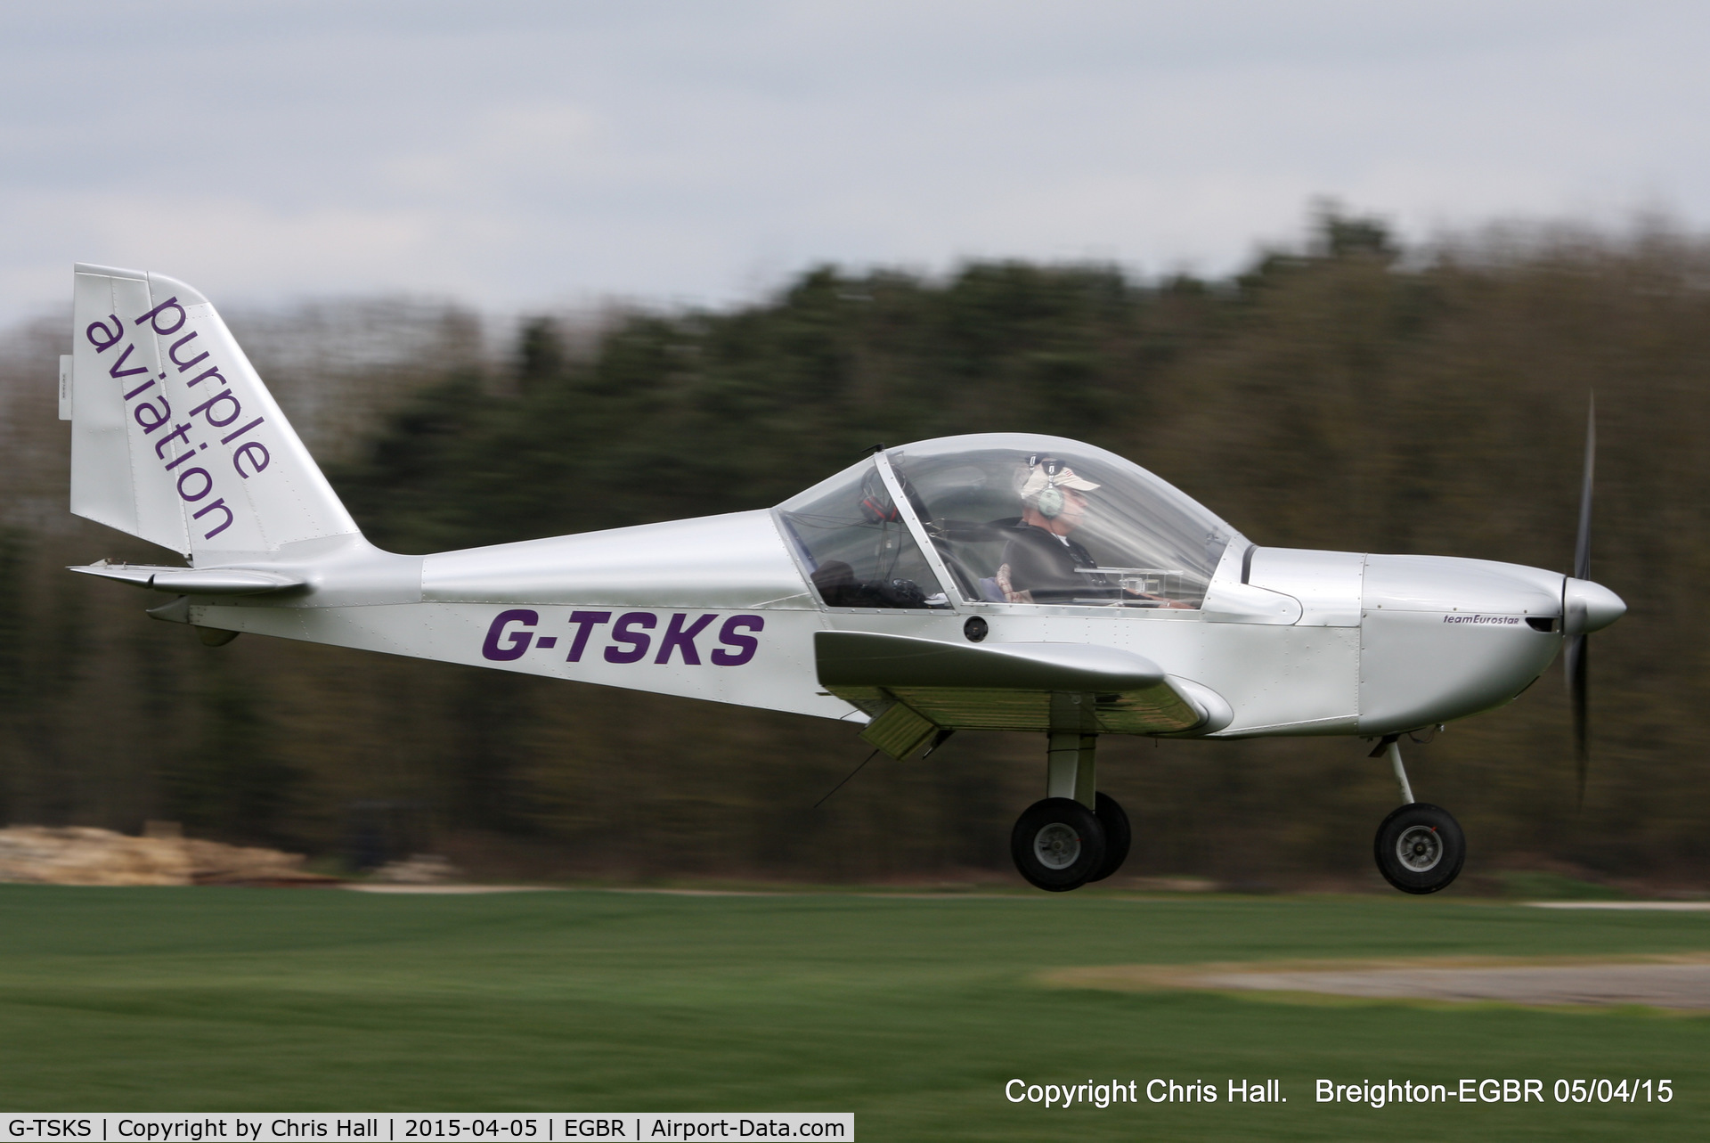
[[(1710, 1136), (1710, 1018), (1047, 989), (1045, 968), (1710, 948), (1710, 914), (1452, 898), (381, 897), (0, 886), (0, 1104), (853, 1110), (865, 1140)], [(1043, 1110), (1040, 1083), (1288, 1104)], [(1672, 1104), (1318, 1105), (1330, 1078), (1669, 1078)]]

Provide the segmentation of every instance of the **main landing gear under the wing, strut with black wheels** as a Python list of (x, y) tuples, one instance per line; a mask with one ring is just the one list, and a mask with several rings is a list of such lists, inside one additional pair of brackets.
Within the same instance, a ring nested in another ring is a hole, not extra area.
[(1096, 746), (1096, 734), (1052, 731), (1045, 799), (1028, 806), (1009, 835), (1016, 869), (1041, 890), (1077, 890), (1108, 878), (1129, 857), (1129, 814), (1094, 791)]

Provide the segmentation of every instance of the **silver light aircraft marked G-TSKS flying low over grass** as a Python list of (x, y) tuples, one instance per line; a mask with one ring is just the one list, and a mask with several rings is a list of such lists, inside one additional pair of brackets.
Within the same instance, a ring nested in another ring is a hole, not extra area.
[(1407, 893), (1465, 842), (1418, 802), (1411, 731), (1503, 705), (1566, 647), (1585, 775), (1587, 436), (1573, 575), (1252, 544), (1139, 465), (1028, 433), (877, 447), (776, 508), (433, 556), (357, 530), (226, 323), (159, 274), (75, 269), (60, 416), (72, 512), (188, 566), (74, 568), (157, 619), (840, 719), (893, 758), (958, 729), (1043, 734), (1011, 835), (1045, 890), (1129, 852), (1100, 734), (1377, 739), (1400, 787), (1377, 864)]

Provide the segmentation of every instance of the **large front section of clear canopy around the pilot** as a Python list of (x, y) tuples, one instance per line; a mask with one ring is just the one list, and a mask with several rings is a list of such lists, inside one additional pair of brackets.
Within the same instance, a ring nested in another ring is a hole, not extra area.
[(946, 436), (887, 455), (966, 599), (1199, 607), (1235, 534), (1137, 464), (1057, 436)]

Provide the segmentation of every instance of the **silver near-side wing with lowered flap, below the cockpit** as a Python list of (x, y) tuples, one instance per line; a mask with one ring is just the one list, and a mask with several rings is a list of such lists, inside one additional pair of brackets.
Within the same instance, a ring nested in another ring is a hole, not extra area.
[(817, 631), (819, 684), (872, 717), (869, 743), (903, 758), (944, 729), (1171, 734), (1207, 712), (1151, 659), (1086, 643), (946, 643)]

